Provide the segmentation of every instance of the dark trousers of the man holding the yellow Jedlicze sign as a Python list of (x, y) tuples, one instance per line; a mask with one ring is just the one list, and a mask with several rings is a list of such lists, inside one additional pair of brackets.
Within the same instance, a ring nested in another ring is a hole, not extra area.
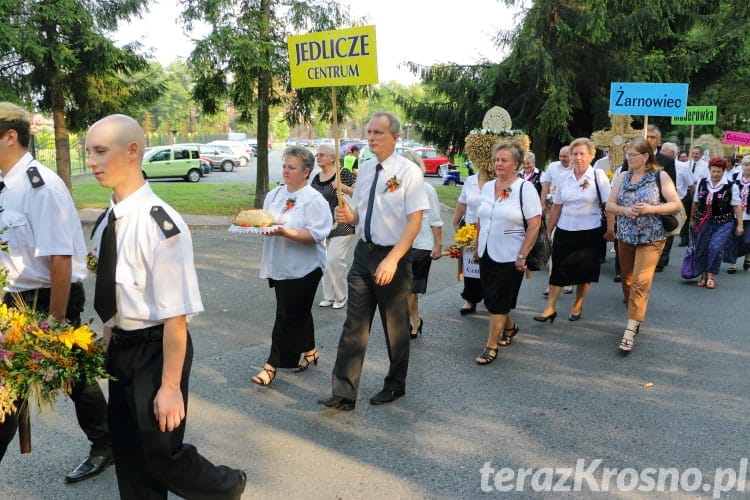
[(392, 247), (359, 242), (349, 270), (346, 321), (341, 332), (336, 364), (333, 367), (333, 395), (356, 400), (362, 375), (367, 342), (370, 337), (375, 308), (380, 311), (390, 366), (385, 389), (406, 387), (409, 369), (409, 308), (411, 262), (409, 254), (399, 261), (393, 280), (388, 285), (375, 284), (375, 270)]

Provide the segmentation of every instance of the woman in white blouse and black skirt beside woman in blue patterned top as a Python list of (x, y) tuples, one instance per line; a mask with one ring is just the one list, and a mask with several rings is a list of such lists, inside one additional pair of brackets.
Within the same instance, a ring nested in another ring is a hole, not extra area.
[(587, 138), (570, 143), (573, 168), (560, 174), (547, 225), (552, 243), (552, 272), (549, 277), (547, 307), (534, 320), (552, 323), (557, 317), (557, 299), (565, 285), (577, 285), (569, 321), (581, 319), (583, 299), (592, 282), (599, 281), (599, 270), (606, 238), (600, 206), (609, 198), (610, 185), (603, 170), (591, 167), (596, 146)]

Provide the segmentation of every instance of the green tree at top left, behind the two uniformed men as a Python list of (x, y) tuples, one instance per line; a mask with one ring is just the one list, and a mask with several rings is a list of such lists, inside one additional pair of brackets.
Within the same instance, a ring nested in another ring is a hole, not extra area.
[(138, 13), (146, 0), (2, 0), (3, 86), (33, 100), (54, 121), (58, 174), (70, 188), (68, 129), (153, 99), (159, 89), (137, 71), (145, 60), (105, 33)]

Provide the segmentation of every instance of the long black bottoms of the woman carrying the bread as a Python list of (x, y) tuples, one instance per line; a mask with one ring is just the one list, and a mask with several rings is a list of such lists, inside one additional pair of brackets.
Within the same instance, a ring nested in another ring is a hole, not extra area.
[(266, 363), (274, 368), (296, 368), (300, 354), (315, 347), (312, 304), (322, 277), (318, 267), (302, 278), (269, 280), (276, 291), (276, 320)]

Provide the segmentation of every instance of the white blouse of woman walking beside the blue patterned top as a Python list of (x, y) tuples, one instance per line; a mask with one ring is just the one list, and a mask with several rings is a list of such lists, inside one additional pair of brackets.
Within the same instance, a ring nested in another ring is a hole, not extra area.
[(606, 203), (610, 190), (609, 179), (603, 170), (589, 166), (580, 179), (575, 178), (572, 169), (564, 172), (560, 175), (553, 199), (556, 205), (562, 205), (557, 227), (566, 231), (601, 227), (599, 200), (601, 197), (601, 203)]

